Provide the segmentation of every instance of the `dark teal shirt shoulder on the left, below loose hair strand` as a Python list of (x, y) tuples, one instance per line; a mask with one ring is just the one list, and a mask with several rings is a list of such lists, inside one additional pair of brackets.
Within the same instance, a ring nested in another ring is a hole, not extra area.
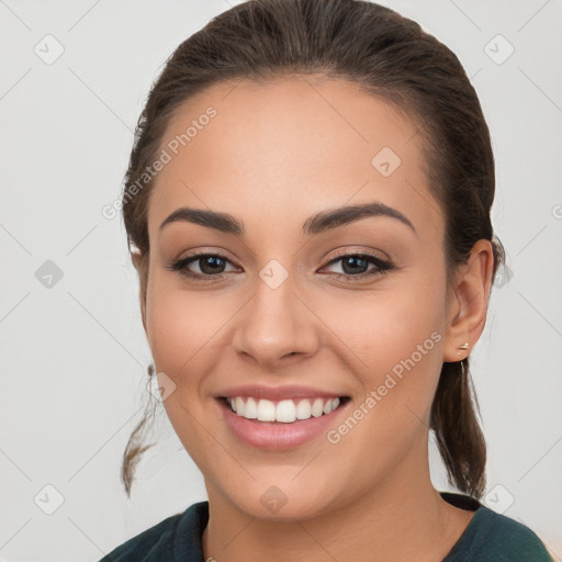
[(193, 532), (204, 512), (203, 504), (206, 502), (193, 504), (183, 513), (167, 517), (123, 542), (99, 562), (175, 562), (177, 536)]

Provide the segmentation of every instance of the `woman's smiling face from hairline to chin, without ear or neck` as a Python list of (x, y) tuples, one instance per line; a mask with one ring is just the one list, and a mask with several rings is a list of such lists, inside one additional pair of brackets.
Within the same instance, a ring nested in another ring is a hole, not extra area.
[[(211, 502), (307, 518), (423, 473), (449, 301), (420, 143), (387, 102), (310, 76), (214, 86), (170, 122), (144, 323)], [(222, 221), (161, 226), (181, 207)]]

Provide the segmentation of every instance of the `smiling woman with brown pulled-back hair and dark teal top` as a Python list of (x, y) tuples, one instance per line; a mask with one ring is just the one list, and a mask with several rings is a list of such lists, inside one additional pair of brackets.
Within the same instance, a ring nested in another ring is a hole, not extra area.
[[(123, 215), (149, 375), (209, 502), (103, 561), (551, 560), (479, 501), (493, 199), (462, 66), (390, 9), (255, 0), (182, 43)], [(460, 494), (431, 484), (429, 430)]]

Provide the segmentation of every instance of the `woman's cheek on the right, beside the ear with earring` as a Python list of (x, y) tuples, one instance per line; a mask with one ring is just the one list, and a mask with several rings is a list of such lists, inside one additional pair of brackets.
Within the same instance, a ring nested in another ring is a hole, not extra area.
[(359, 403), (370, 397), (363, 406), (369, 420), (359, 424), (357, 435), (366, 431), (364, 440), (355, 442), (405, 443), (420, 420), (428, 422), (442, 366), (443, 292), (435, 273), (404, 274), (364, 296), (325, 303), (326, 324), (337, 326), (338, 337), (359, 358), (353, 361), (364, 393)]

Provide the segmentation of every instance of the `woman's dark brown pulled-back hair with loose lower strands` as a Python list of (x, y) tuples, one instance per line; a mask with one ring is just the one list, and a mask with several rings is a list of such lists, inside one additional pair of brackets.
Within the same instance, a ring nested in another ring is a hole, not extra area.
[[(457, 56), (416, 22), (366, 0), (250, 0), (216, 15), (178, 46), (139, 116), (122, 209), (128, 249), (140, 254), (135, 261), (140, 299), (148, 280), (147, 210), (154, 179), (142, 189), (138, 182), (157, 158), (173, 111), (218, 82), (317, 72), (355, 82), (411, 117), (422, 135), (429, 189), (446, 217), (448, 281), (479, 239), (492, 243), (495, 276), (505, 252), (490, 217), (494, 157), (476, 92)], [(148, 374), (154, 375), (151, 366)], [(443, 362), (430, 429), (449, 482), (480, 498), (486, 445), (476, 412), (469, 359)], [(147, 449), (142, 437), (148, 417), (147, 408), (123, 454), (121, 475), (128, 496), (134, 467)]]

